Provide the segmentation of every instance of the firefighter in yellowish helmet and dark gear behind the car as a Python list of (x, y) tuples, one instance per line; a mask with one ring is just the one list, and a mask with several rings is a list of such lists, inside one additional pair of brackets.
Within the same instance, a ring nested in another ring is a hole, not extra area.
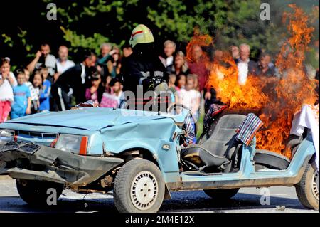
[[(134, 93), (134, 100), (127, 99), (127, 107), (131, 109), (134, 104), (134, 107), (140, 110), (141, 105), (139, 104), (144, 106), (147, 102), (147, 99), (143, 97), (146, 92), (156, 91), (159, 94), (167, 90), (168, 74), (154, 51), (154, 36), (148, 27), (143, 24), (135, 27), (129, 44), (132, 46), (133, 53), (123, 60), (121, 69), (124, 97), (127, 96), (128, 91)], [(161, 100), (166, 99), (159, 98), (159, 102)]]

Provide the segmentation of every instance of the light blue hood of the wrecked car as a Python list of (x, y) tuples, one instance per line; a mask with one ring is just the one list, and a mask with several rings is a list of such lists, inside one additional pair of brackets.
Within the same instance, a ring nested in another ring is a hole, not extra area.
[(42, 112), (36, 115), (9, 120), (7, 123), (70, 127), (80, 130), (100, 130), (105, 127), (123, 125), (130, 122), (157, 120), (167, 117), (170, 117), (175, 122), (183, 122), (183, 115), (160, 114), (158, 112), (139, 110), (82, 107), (63, 112)]

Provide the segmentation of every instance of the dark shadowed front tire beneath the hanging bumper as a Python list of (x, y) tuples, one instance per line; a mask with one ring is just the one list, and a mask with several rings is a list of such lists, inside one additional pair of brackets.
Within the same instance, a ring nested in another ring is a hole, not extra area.
[(16, 189), (21, 199), (31, 206), (48, 206), (48, 189), (55, 189), (56, 199), (63, 192), (64, 185), (49, 181), (33, 181), (25, 179), (16, 179)]

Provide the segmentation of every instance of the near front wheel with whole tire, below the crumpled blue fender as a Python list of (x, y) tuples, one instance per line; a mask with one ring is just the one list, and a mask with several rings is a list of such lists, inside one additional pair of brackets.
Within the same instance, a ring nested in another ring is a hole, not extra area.
[(119, 169), (114, 180), (114, 205), (121, 213), (155, 213), (164, 201), (160, 169), (148, 160), (133, 159)]

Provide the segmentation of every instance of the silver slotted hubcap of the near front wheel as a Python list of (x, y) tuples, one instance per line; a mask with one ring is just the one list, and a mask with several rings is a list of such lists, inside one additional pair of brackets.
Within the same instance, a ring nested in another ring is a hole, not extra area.
[(158, 181), (154, 174), (142, 171), (132, 181), (130, 197), (132, 204), (139, 210), (146, 210), (152, 206), (158, 196)]

